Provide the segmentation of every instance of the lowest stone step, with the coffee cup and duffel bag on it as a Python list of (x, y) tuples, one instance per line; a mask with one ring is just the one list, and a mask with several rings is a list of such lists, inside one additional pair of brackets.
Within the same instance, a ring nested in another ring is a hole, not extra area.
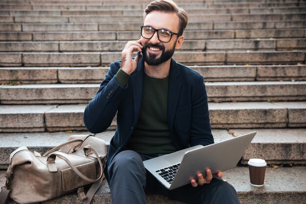
[[(303, 177), (305, 166), (294, 167), (267, 167), (263, 187), (255, 187), (250, 184), (248, 167), (236, 167), (224, 171), (223, 179), (234, 186), (241, 204), (298, 204), (305, 203), (306, 183)], [(5, 184), (5, 171), (0, 171), (0, 185)], [(285, 175), (285, 176), (284, 176)], [(164, 196), (147, 195), (148, 204), (181, 204), (171, 201)], [(59, 198), (42, 202), (42, 204), (81, 204), (76, 192)], [(107, 181), (102, 182), (101, 187), (93, 198), (94, 204), (111, 204), (111, 195)], [(9, 200), (8, 204), (16, 204)]]

